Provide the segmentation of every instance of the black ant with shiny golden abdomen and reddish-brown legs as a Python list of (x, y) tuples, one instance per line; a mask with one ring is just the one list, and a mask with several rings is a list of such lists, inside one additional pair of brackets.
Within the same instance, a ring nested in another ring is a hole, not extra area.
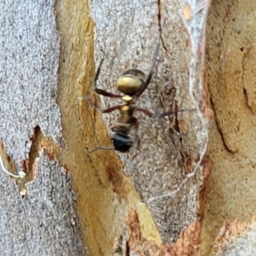
[(91, 151), (87, 151), (87, 154), (90, 154), (96, 151), (97, 149), (109, 149), (109, 150), (113, 149), (122, 153), (128, 152), (133, 144), (131, 137), (129, 137), (129, 133), (131, 132), (131, 129), (134, 128), (137, 134), (137, 130), (139, 126), (137, 118), (134, 117), (133, 115), (135, 111), (143, 112), (144, 114), (148, 115), (151, 118), (161, 118), (165, 116), (170, 116), (173, 113), (188, 111), (188, 110), (179, 110), (175, 112), (171, 111), (166, 113), (151, 113), (147, 109), (137, 108), (136, 106), (137, 99), (148, 88), (148, 84), (150, 83), (151, 78), (153, 76), (155, 62), (157, 59), (157, 55), (159, 53), (159, 48), (160, 48), (160, 43), (158, 42), (158, 44), (156, 44), (154, 49), (152, 66), (146, 80), (145, 80), (145, 74), (137, 68), (128, 69), (120, 75), (119, 79), (117, 80), (117, 89), (121, 93), (123, 93), (124, 96), (113, 94), (106, 90), (102, 90), (96, 87), (96, 81), (98, 79), (98, 76), (102, 67), (102, 63), (104, 61), (104, 59), (102, 59), (96, 71), (96, 76), (94, 79), (94, 90), (96, 91), (97, 94), (102, 96), (108, 96), (111, 98), (121, 98), (124, 104), (113, 106), (107, 109), (102, 109), (90, 103), (93, 108), (96, 108), (96, 110), (100, 111), (101, 113), (111, 113), (114, 110), (119, 110), (120, 114), (117, 121), (111, 127), (111, 131), (113, 131), (113, 135), (111, 135), (110, 138), (113, 142), (113, 148), (98, 146), (92, 149)]

